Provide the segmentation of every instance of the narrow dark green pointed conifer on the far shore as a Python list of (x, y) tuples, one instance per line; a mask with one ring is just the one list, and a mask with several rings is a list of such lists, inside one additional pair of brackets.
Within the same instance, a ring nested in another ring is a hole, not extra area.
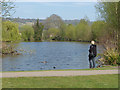
[(39, 23), (39, 19), (37, 19), (37, 22), (33, 25), (33, 28), (35, 41), (41, 41), (44, 25), (42, 23)]

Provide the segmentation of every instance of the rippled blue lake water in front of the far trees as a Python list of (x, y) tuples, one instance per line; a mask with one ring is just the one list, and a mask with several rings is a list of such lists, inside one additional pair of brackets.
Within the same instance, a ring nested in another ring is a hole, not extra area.
[[(3, 57), (2, 70), (87, 69), (89, 46), (81, 42), (21, 42), (17, 48), (24, 50), (22, 55)], [(44, 61), (47, 63), (41, 63)]]

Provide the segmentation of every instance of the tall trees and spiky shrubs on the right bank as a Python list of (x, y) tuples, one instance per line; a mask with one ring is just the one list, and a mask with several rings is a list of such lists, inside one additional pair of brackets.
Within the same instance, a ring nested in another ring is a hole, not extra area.
[(120, 65), (120, 2), (100, 2), (96, 5), (101, 18), (106, 22), (105, 36), (101, 44), (105, 46), (103, 60), (110, 65)]

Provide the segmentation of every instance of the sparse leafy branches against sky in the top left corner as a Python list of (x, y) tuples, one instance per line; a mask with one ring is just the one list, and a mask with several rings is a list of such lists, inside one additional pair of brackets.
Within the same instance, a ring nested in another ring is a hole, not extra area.
[(0, 1), (0, 6), (2, 6), (2, 17), (6, 18), (15, 13), (15, 4), (11, 0)]

